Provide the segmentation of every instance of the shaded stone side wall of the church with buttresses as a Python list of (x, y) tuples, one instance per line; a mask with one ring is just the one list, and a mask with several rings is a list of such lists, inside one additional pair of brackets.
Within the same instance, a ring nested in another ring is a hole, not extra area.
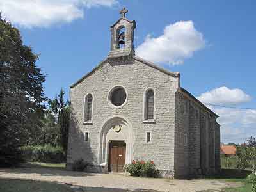
[(220, 125), (183, 92), (175, 94), (174, 164), (177, 177), (209, 175), (220, 168)]

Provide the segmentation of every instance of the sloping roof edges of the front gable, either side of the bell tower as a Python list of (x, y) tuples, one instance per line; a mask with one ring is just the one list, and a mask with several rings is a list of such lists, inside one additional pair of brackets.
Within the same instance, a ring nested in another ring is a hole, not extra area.
[[(144, 63), (146, 65), (148, 65), (149, 67), (152, 67), (152, 68), (155, 68), (161, 72), (163, 72), (164, 74), (167, 74), (169, 76), (172, 76), (172, 77), (180, 77), (180, 73), (179, 72), (170, 72), (162, 67), (159, 67), (157, 66), (156, 64), (150, 62), (150, 61), (147, 61), (147, 60), (144, 60), (143, 58), (140, 58), (138, 56), (132, 56), (132, 58), (134, 60), (137, 60), (137, 61), (141, 61), (141, 63)], [(85, 74), (83, 77), (81, 77), (79, 80), (77, 80), (75, 83), (71, 84), (70, 85), (70, 88), (74, 88), (74, 86), (76, 86), (77, 84), (79, 84), (81, 81), (83, 81), (84, 79), (86, 79), (86, 77), (90, 76), (91, 74), (93, 74), (93, 72), (95, 72), (95, 70), (97, 70), (97, 68), (99, 68), (103, 63), (105, 63), (106, 61), (108, 61), (108, 58), (106, 58), (105, 60), (101, 61), (96, 67), (94, 67), (90, 72), (88, 72), (87, 74)]]

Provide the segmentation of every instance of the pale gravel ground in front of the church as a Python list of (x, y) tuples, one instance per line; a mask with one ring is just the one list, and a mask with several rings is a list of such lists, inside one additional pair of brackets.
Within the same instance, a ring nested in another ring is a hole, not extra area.
[(129, 177), (117, 173), (95, 174), (72, 172), (57, 168), (8, 168), (0, 169), (0, 179), (29, 179), (58, 182), (70, 185), (74, 191), (92, 192), (195, 192), (195, 191), (220, 191), (221, 188), (234, 186), (234, 183), (218, 180), (177, 180), (177, 179), (149, 179)]

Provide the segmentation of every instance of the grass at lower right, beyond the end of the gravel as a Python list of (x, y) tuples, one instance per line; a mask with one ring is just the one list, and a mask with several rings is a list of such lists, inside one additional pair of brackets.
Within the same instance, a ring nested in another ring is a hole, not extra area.
[(252, 184), (248, 183), (246, 177), (252, 173), (250, 170), (222, 169), (220, 175), (214, 175), (205, 179), (223, 180), (226, 182), (241, 182), (243, 186), (225, 188), (221, 192), (252, 192)]

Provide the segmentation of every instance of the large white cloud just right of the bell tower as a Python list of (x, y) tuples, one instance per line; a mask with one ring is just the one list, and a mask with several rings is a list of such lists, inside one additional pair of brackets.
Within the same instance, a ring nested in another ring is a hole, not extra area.
[(204, 46), (204, 37), (195, 29), (193, 22), (180, 21), (166, 26), (161, 36), (147, 35), (136, 49), (136, 54), (156, 63), (179, 65)]

